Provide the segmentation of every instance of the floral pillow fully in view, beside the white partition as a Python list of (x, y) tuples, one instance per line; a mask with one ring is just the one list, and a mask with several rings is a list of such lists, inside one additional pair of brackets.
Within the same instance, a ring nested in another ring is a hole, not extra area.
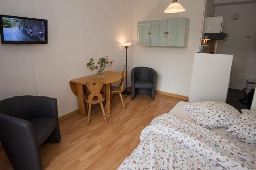
[(195, 123), (208, 128), (228, 128), (237, 123), (240, 113), (233, 106), (215, 101), (192, 102), (185, 105)]

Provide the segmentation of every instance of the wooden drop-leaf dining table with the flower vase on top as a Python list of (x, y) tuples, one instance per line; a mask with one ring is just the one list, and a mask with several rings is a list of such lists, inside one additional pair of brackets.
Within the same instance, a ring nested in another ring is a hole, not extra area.
[[(92, 78), (97, 77), (97, 74), (78, 79), (70, 80), (70, 88), (72, 92), (77, 96), (79, 114), (86, 115), (86, 102), (84, 101), (84, 94), (86, 93), (86, 82)], [(106, 113), (110, 114), (111, 111), (111, 83), (120, 81), (123, 78), (122, 74), (114, 71), (103, 72), (103, 77), (99, 78), (104, 82), (103, 90), (106, 91)]]

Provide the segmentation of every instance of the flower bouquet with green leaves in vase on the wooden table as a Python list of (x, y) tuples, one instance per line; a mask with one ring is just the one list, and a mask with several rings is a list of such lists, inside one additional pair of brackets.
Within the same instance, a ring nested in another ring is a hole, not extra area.
[(98, 65), (93, 61), (93, 58), (86, 64), (86, 67), (89, 67), (90, 70), (94, 71), (95, 69), (98, 72), (98, 77), (103, 77), (103, 71), (108, 70), (113, 64), (113, 60), (109, 60), (108, 56), (99, 58)]

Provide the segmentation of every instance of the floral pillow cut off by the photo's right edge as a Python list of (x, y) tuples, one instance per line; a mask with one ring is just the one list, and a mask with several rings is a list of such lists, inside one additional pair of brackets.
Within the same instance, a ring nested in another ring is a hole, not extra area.
[(241, 110), (240, 122), (229, 127), (226, 134), (256, 147), (256, 111)]

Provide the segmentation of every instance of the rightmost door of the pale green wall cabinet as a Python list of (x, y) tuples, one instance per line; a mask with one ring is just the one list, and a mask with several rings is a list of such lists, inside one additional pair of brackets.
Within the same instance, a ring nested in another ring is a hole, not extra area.
[(186, 18), (168, 19), (166, 46), (186, 46)]

